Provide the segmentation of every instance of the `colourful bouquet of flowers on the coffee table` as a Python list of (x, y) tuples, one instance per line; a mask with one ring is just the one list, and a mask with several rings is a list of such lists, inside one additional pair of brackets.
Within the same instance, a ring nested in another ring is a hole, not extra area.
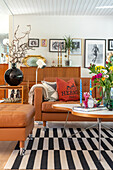
[(92, 76), (92, 81), (94, 81), (95, 86), (93, 86), (91, 90), (93, 90), (94, 87), (101, 87), (103, 92), (101, 95), (103, 94), (108, 103), (110, 101), (111, 88), (113, 88), (113, 53), (109, 54), (106, 67), (90, 64), (89, 70), (90, 74), (95, 74)]

